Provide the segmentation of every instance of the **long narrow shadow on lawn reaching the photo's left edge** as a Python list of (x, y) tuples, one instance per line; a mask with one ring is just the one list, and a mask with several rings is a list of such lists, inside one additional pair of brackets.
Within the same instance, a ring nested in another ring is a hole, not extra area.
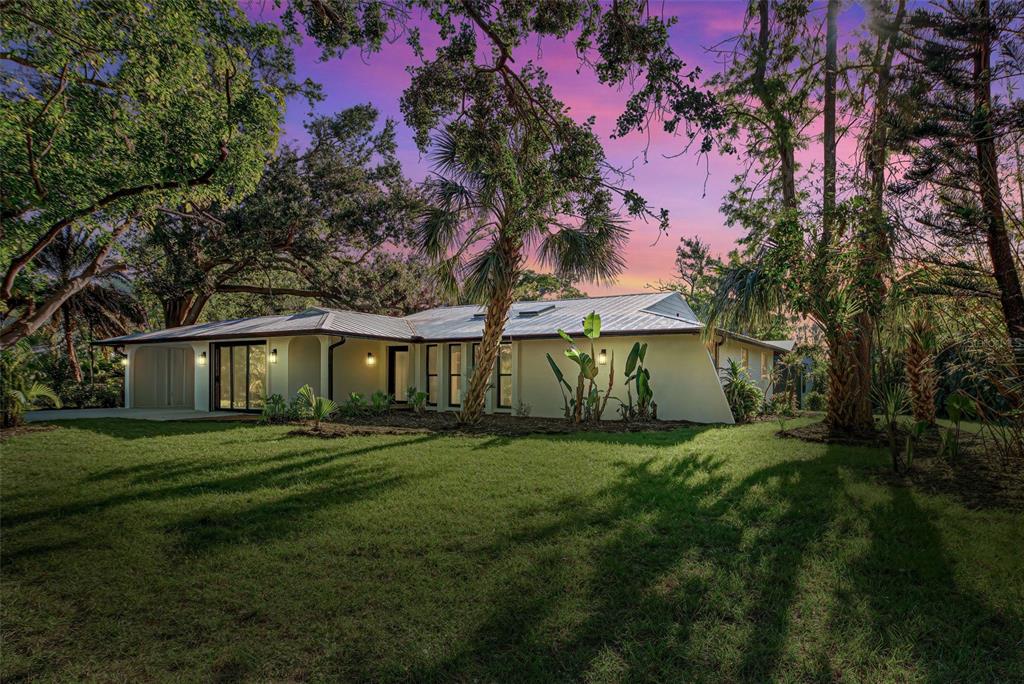
[[(166, 469), (162, 473), (155, 470), (145, 471), (146, 481), (155, 482), (161, 479), (178, 480), (186, 476), (207, 475), (225, 469), (237, 470), (245, 468), (246, 470), (237, 475), (158, 486), (142, 490), (128, 488), (104, 498), (61, 504), (35, 511), (4, 514), (2, 520), (0, 520), (0, 524), (4, 528), (10, 528), (44, 518), (58, 516), (67, 518), (86, 513), (94, 514), (117, 506), (138, 502), (166, 501), (209, 494), (238, 495), (266, 487), (285, 488), (300, 482), (304, 483), (308, 476), (314, 473), (323, 475), (324, 473), (319, 469), (324, 466), (336, 464), (340, 459), (350, 459), (383, 450), (420, 444), (435, 438), (434, 435), (423, 435), (414, 439), (377, 443), (347, 452), (335, 452), (330, 447), (319, 447), (279, 454), (251, 462), (204, 462), (200, 464), (170, 462), (166, 464)], [(266, 464), (271, 465), (267, 468), (258, 468), (259, 465)], [(254, 467), (257, 467), (257, 469), (254, 469)]]

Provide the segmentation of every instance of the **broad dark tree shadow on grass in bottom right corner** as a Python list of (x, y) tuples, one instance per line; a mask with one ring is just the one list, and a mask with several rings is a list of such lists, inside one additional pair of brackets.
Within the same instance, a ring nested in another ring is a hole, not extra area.
[[(972, 592), (956, 576), (954, 560), (934, 524), (937, 513), (923, 509), (907, 487), (888, 491), (889, 501), (863, 511), (870, 546), (851, 563), (851, 582), (840, 595), (830, 628), (842, 634), (858, 622), (865, 624), (862, 632), (882, 659), (902, 661), (927, 681), (1020, 681), (1024, 616), (1019, 604), (1013, 605), (1011, 592), (1001, 594), (1011, 604), (1004, 606), (990, 605)], [(989, 553), (1020, 554), (1021, 542), (1020, 533), (998, 540), (1000, 548)], [(984, 567), (991, 559), (980, 555), (964, 562)], [(1024, 582), (1024, 563), (1017, 568), (1016, 581), (1002, 574), (995, 581), (1008, 586)], [(1016, 608), (1016, 614), (1008, 608)]]

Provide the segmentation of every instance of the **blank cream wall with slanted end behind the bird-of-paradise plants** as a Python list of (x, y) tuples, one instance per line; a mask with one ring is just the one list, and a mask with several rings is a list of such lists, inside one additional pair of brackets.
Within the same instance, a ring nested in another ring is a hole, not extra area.
[[(608, 370), (614, 362), (611, 396), (626, 400), (623, 371), (634, 342), (647, 342), (646, 367), (650, 371), (659, 419), (697, 423), (733, 422), (715, 365), (697, 335), (616, 336), (598, 340), (594, 345), (595, 352), (606, 349), (608, 353), (607, 365), (600, 366), (598, 372), (597, 383), (602, 390), (607, 387)], [(560, 418), (563, 415), (562, 395), (546, 354), (551, 354), (566, 380), (574, 386), (578, 367), (565, 358), (565, 343), (561, 340), (524, 340), (517, 342), (516, 346), (518, 353), (513, 354), (513, 401), (517, 397), (529, 404), (532, 416)], [(617, 407), (618, 402), (610, 399), (604, 418), (617, 419)]]

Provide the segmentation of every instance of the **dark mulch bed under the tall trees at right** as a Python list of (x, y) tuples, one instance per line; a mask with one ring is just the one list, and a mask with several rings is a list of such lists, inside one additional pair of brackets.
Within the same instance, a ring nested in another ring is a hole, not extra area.
[[(836, 435), (828, 432), (824, 423), (793, 428), (779, 434), (828, 444), (889, 447), (889, 437), (882, 430)], [(900, 439), (902, 441), (903, 437)], [(955, 459), (939, 456), (938, 431), (926, 433), (907, 472), (896, 473), (887, 468), (878, 473), (878, 479), (928, 494), (948, 495), (972, 509), (1024, 510), (1024, 464), (1002, 463), (996, 454), (986, 447), (983, 439), (971, 433), (961, 434), (961, 455)]]

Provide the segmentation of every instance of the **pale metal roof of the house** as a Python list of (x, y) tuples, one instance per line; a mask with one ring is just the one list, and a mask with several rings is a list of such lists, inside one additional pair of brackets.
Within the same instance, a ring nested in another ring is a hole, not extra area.
[[(333, 335), (409, 342), (474, 340), (483, 334), (483, 307), (443, 306), (404, 317), (340, 311), (313, 307), (290, 315), (219, 320), (135, 333), (102, 340), (97, 344), (122, 345), (147, 342), (241, 339), (287, 335)], [(586, 299), (516, 302), (512, 305), (505, 337), (555, 337), (558, 330), (583, 334), (584, 317), (591, 311), (601, 315), (602, 335), (643, 333), (696, 333), (702, 329), (693, 309), (675, 292), (611, 295)], [(736, 336), (757, 344), (765, 343)], [(767, 346), (767, 345), (766, 345)]]

